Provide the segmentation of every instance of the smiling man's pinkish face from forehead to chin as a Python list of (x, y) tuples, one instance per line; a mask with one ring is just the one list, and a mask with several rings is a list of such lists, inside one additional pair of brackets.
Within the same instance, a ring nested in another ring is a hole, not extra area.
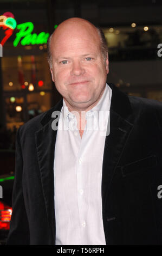
[(100, 39), (93, 28), (69, 27), (51, 42), (52, 79), (71, 110), (88, 110), (106, 85), (108, 57), (103, 62)]

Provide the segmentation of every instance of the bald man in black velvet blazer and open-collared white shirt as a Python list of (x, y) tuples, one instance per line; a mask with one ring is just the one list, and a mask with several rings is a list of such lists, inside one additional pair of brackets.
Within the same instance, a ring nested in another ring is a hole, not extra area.
[(106, 84), (86, 20), (62, 22), (49, 52), (63, 100), (17, 132), (8, 245), (162, 244), (161, 103)]

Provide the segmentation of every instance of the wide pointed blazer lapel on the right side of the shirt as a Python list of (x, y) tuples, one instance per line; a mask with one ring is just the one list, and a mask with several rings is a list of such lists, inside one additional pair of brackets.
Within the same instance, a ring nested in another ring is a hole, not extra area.
[(115, 168), (119, 163), (133, 124), (126, 118), (131, 114), (131, 104), (128, 96), (120, 92), (113, 84), (112, 100), (109, 114), (110, 132), (105, 139), (105, 149), (102, 165), (102, 204), (106, 203), (107, 193), (111, 185)]

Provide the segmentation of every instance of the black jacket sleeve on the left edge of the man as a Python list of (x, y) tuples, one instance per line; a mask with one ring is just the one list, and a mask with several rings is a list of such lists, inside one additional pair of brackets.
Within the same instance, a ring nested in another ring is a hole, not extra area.
[(16, 136), (15, 180), (12, 193), (12, 216), (7, 245), (30, 244), (29, 225), (24, 205), (22, 187), (23, 157), (20, 143), (20, 130), (21, 128), (18, 129)]

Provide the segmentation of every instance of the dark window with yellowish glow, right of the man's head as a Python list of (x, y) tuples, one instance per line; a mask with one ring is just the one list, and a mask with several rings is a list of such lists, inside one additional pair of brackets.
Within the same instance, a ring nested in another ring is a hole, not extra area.
[(102, 28), (109, 47), (111, 60), (158, 59), (157, 45), (162, 39), (161, 26), (137, 26)]

